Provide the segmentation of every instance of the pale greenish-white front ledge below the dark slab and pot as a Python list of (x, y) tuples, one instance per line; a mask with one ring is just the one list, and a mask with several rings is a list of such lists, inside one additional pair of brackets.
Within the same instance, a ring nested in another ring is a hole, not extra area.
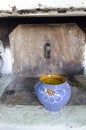
[(41, 106), (0, 106), (0, 130), (85, 130), (86, 106), (49, 112)]

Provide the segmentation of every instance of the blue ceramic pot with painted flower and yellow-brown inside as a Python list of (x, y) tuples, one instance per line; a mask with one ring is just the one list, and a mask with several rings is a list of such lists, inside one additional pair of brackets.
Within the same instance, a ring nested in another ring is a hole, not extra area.
[(58, 111), (71, 97), (70, 85), (60, 75), (44, 75), (35, 86), (35, 93), (41, 104), (50, 110)]

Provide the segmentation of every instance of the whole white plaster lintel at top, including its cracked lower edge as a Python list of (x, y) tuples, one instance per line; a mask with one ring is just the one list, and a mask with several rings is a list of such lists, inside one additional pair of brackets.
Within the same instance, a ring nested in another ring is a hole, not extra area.
[(85, 0), (0, 0), (0, 17), (86, 16)]

